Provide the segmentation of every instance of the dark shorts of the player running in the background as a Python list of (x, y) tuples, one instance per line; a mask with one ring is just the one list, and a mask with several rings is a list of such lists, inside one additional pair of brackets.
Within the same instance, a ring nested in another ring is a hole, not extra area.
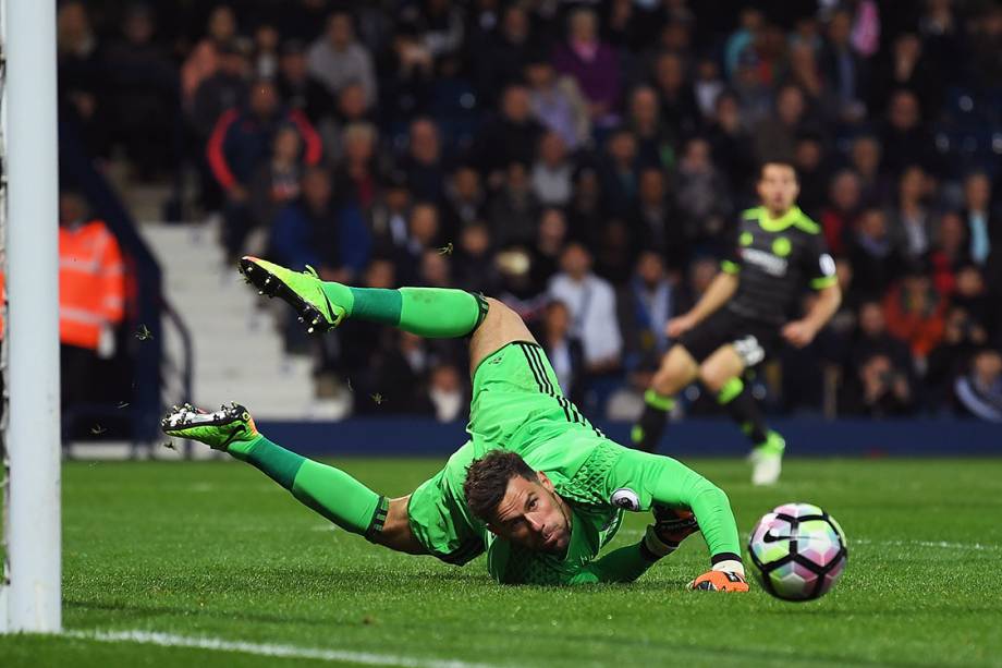
[(679, 338), (696, 362), (702, 362), (721, 345), (730, 343), (746, 368), (761, 364), (780, 344), (780, 328), (745, 318), (726, 307), (718, 309)]

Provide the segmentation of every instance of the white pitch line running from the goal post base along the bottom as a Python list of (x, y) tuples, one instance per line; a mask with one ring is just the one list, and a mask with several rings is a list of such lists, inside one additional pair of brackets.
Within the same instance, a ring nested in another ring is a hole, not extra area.
[(191, 647), (215, 652), (240, 652), (257, 656), (280, 658), (306, 658), (321, 661), (364, 664), (367, 666), (402, 666), (404, 668), (498, 668), (493, 664), (473, 664), (456, 659), (418, 658), (400, 654), (376, 654), (371, 652), (351, 652), (347, 649), (325, 649), (321, 647), (297, 647), (295, 645), (274, 645), (270, 643), (250, 643), (229, 641), (219, 637), (192, 637), (158, 633), (155, 631), (66, 631), (64, 636), (91, 640), (102, 643), (140, 643), (160, 647)]

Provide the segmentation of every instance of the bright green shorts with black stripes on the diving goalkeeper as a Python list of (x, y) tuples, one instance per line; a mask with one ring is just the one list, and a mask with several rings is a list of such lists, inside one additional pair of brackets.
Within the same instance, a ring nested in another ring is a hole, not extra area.
[(571, 477), (599, 442), (609, 442), (563, 396), (542, 349), (526, 342), (509, 343), (480, 362), (466, 430), (471, 439), (407, 506), (411, 530), (428, 552), (460, 566), (484, 551), (487, 536), (463, 495), (474, 459), (503, 448), (537, 471)]

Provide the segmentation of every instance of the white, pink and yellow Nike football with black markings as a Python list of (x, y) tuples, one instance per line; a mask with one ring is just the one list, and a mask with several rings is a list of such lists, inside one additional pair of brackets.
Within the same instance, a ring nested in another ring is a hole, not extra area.
[(762, 588), (784, 600), (821, 597), (848, 559), (842, 527), (810, 503), (785, 503), (759, 520), (748, 552)]

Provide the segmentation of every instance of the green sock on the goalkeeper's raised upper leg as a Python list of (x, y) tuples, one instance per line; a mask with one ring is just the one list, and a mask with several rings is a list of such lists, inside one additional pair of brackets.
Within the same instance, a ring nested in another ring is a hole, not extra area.
[(351, 288), (333, 281), (322, 284), (345, 316), (400, 327), (430, 339), (465, 337), (487, 315), (487, 302), (464, 290), (447, 288)]

